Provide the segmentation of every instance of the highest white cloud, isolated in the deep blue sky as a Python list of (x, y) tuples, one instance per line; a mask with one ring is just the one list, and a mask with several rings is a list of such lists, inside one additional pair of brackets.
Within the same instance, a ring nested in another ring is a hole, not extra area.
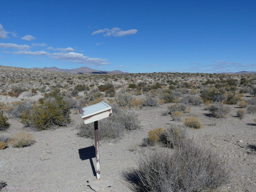
[(127, 31), (123, 31), (122, 29), (120, 29), (118, 27), (113, 27), (112, 29), (105, 28), (105, 29), (100, 29), (100, 30), (94, 31), (92, 33), (92, 35), (104, 33), (103, 36), (118, 36), (118, 37), (121, 37), (121, 36), (126, 36), (126, 35), (134, 35), (137, 32), (138, 32), (138, 30), (136, 30), (136, 29), (130, 29), (130, 30), (127, 30)]

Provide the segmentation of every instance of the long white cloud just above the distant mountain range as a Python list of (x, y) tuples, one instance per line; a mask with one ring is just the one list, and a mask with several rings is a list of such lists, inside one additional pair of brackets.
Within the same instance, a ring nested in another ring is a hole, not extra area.
[(90, 64), (90, 65), (95, 65), (95, 66), (109, 64), (107, 59), (90, 58), (88, 56), (84, 56), (83, 54), (75, 53), (75, 52), (53, 53), (52, 56), (50, 56), (50, 58), (56, 59), (56, 60), (67, 60), (70, 62)]

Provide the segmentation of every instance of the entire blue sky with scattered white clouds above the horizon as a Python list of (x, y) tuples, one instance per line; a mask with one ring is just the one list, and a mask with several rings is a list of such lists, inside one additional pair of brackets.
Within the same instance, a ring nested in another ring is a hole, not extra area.
[(0, 2), (0, 65), (256, 71), (256, 1)]

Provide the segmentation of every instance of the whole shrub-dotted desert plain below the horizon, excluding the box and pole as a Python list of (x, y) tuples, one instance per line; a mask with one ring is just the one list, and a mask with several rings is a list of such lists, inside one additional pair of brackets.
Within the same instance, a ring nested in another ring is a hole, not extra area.
[[(46, 192), (254, 192), (255, 95), (256, 74), (0, 66), (0, 184)], [(94, 126), (83, 124), (78, 108), (101, 101), (113, 116), (99, 121), (97, 181)]]

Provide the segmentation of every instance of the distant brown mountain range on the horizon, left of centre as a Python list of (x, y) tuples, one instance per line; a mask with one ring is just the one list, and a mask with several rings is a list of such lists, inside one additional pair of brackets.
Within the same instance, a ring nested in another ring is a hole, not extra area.
[(44, 67), (44, 68), (30, 68), (30, 69), (38, 69), (38, 70), (45, 70), (45, 71), (56, 71), (56, 72), (64, 72), (64, 73), (77, 73), (77, 74), (108, 74), (108, 73), (127, 73), (122, 72), (120, 70), (114, 70), (114, 71), (99, 71), (94, 70), (88, 67), (80, 67), (75, 69), (59, 69), (57, 67)]

